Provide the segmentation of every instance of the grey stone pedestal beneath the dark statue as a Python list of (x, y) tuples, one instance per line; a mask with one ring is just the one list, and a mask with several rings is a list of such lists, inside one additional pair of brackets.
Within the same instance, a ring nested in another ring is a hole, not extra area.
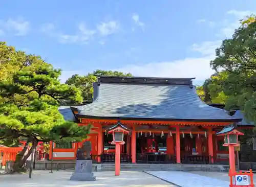
[(76, 160), (75, 172), (70, 180), (94, 181), (95, 176), (92, 173), (92, 160)]

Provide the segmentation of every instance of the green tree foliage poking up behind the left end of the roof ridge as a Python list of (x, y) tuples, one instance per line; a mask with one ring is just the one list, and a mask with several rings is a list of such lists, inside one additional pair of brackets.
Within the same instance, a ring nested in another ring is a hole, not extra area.
[(104, 71), (97, 69), (93, 73), (89, 73), (86, 76), (73, 75), (70, 77), (66, 84), (74, 85), (82, 91), (83, 100), (91, 100), (93, 98), (93, 82), (97, 81), (97, 76), (125, 76), (132, 77), (131, 73), (124, 74), (118, 71)]

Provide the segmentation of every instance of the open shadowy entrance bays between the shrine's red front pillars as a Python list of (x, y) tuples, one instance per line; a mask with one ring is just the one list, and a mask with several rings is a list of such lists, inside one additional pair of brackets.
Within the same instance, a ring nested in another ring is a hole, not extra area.
[[(115, 161), (112, 134), (103, 133), (102, 162)], [(121, 162), (132, 162), (131, 134), (124, 135)], [(182, 163), (209, 163), (207, 137), (202, 134), (180, 134)], [(176, 163), (176, 134), (136, 132), (136, 163)]]

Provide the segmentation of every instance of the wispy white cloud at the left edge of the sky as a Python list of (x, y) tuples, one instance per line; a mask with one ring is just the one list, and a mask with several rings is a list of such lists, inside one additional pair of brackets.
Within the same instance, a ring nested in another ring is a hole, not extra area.
[(23, 17), (17, 19), (9, 18), (8, 20), (0, 20), (1, 33), (5, 30), (14, 31), (17, 36), (25, 36), (30, 31), (30, 22)]

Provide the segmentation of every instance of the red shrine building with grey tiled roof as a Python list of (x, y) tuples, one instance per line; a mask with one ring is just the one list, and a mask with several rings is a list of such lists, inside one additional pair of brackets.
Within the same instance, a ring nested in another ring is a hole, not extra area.
[[(66, 108), (62, 114), (79, 125), (91, 124), (84, 141), (91, 141), (95, 162), (114, 162), (115, 145), (106, 130), (117, 123), (130, 130), (124, 135), (121, 162), (228, 161), (223, 137), (216, 133), (228, 125), (241, 128), (242, 118), (202, 102), (193, 79), (99, 76), (93, 102)], [(75, 159), (81, 144), (54, 144), (53, 159)]]

